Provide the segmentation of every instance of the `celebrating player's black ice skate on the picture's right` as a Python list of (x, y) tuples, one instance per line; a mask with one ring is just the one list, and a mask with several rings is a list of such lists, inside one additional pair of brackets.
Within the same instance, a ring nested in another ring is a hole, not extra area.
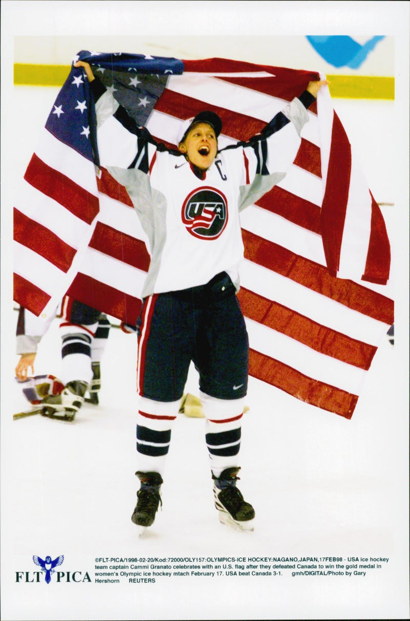
[(236, 481), (240, 468), (226, 468), (213, 478), (213, 497), (218, 509), (219, 520), (239, 530), (254, 530), (255, 512), (249, 502), (245, 502)]

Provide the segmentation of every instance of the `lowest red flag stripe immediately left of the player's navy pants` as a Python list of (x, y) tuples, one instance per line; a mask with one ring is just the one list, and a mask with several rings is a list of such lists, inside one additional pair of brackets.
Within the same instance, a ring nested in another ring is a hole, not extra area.
[(69, 296), (126, 324), (135, 325), (141, 300), (79, 272), (67, 291)]

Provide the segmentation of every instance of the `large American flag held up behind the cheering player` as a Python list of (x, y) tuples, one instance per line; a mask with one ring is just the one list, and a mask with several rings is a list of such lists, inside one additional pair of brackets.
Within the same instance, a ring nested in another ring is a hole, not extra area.
[[(138, 124), (169, 147), (180, 120), (203, 109), (223, 121), (220, 147), (247, 140), (319, 78), (221, 58), (87, 51), (76, 58), (91, 63)], [(390, 245), (327, 89), (308, 114), (291, 170), (241, 215), (238, 297), (251, 376), (349, 419), (393, 324), (382, 286)], [(127, 134), (109, 122), (97, 132), (86, 76), (72, 67), (15, 207), (14, 299), (36, 315), (47, 317), (68, 291), (135, 322), (149, 265), (145, 234), (125, 188), (104, 167), (120, 163), (124, 143), (134, 140)]]

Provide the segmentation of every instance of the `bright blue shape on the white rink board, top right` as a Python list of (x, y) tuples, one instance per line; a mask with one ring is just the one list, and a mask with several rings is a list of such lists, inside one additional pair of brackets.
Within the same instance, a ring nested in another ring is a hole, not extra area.
[(371, 37), (363, 45), (360, 45), (352, 37), (331, 35), (329, 37), (306, 37), (316, 52), (321, 55), (329, 65), (334, 67), (350, 67), (358, 69), (368, 57), (368, 54), (376, 47), (384, 36)]

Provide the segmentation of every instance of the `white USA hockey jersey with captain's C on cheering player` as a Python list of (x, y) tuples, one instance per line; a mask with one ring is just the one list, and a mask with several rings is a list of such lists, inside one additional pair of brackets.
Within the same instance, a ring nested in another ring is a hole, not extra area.
[(201, 175), (182, 153), (136, 127), (99, 81), (92, 86), (99, 132), (115, 132), (118, 144), (117, 124), (127, 127), (120, 150), (100, 150), (100, 160), (127, 189), (146, 233), (151, 262), (142, 297), (205, 284), (221, 271), (239, 289), (239, 212), (285, 177), (308, 121), (305, 105), (293, 99), (261, 134), (219, 150)]

